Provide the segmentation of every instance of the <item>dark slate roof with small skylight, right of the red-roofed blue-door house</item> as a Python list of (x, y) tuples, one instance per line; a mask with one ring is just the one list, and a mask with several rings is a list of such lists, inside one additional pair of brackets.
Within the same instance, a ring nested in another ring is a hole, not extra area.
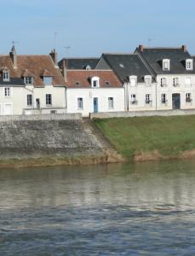
[(145, 75), (152, 75), (139, 55), (136, 54), (103, 54), (102, 58), (123, 82), (129, 81), (129, 76), (137, 76), (139, 83), (144, 82)]

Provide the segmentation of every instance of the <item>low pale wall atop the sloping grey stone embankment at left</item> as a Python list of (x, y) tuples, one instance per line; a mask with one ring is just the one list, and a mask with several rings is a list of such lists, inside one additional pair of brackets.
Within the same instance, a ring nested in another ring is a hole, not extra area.
[(81, 120), (81, 113), (0, 115), (0, 122), (35, 120)]

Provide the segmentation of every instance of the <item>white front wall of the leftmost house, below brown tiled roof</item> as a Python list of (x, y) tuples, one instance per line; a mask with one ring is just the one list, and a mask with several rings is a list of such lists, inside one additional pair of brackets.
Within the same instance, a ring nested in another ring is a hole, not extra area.
[[(51, 104), (46, 104), (46, 95), (51, 95)], [(32, 95), (32, 104), (28, 105), (27, 95)], [(37, 99), (40, 106), (37, 108)], [(0, 115), (31, 113), (66, 113), (66, 88), (47, 85), (41, 88), (32, 85), (0, 86)]]

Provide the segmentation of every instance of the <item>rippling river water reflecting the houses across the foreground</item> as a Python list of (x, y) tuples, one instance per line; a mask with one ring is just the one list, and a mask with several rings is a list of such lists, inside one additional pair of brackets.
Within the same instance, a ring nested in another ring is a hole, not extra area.
[(195, 161), (1, 170), (0, 255), (195, 255)]

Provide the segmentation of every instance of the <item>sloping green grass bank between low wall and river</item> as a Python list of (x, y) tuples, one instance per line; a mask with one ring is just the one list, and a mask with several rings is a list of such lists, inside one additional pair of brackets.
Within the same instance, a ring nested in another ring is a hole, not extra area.
[(127, 158), (153, 150), (175, 156), (195, 148), (195, 115), (94, 119), (94, 122), (118, 153)]

